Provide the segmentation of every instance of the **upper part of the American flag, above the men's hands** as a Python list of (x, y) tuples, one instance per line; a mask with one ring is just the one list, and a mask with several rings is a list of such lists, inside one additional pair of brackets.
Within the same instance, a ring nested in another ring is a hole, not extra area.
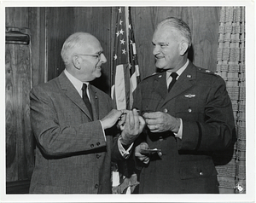
[(131, 8), (118, 9), (112, 68), (111, 96), (117, 109), (131, 109), (132, 92), (140, 81)]

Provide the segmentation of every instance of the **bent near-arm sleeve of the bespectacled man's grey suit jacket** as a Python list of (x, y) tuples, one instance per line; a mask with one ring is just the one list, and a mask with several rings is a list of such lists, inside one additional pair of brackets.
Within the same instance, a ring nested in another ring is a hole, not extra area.
[[(30, 94), (32, 130), (45, 155), (68, 156), (106, 146), (99, 120), (78, 125), (60, 125), (55, 104), (43, 88)], [(80, 115), (77, 115), (80, 116)]]

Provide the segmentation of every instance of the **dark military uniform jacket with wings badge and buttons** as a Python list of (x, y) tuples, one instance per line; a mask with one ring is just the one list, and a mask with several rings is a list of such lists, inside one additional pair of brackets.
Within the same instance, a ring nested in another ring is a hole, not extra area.
[(183, 119), (182, 140), (171, 131), (141, 136), (163, 155), (152, 155), (143, 168), (140, 193), (218, 193), (212, 152), (227, 148), (235, 131), (224, 80), (189, 62), (170, 93), (166, 73), (156, 73), (138, 85), (134, 98), (142, 113), (160, 111)]

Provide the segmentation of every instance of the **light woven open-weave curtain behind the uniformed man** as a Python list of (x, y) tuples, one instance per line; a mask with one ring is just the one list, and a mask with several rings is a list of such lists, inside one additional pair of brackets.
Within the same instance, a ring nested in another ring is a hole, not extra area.
[[(218, 154), (220, 193), (246, 193), (245, 7), (220, 12), (217, 73), (226, 81), (236, 124), (236, 141)], [(225, 163), (225, 161), (227, 163)]]

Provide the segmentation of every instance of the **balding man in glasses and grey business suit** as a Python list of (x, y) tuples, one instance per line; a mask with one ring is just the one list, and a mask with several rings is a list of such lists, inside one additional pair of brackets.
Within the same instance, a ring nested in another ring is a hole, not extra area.
[[(31, 92), (37, 148), (30, 193), (111, 193), (111, 160), (129, 156), (144, 120), (135, 110), (113, 109), (109, 96), (90, 84), (107, 61), (94, 36), (74, 33), (63, 44), (61, 57), (64, 72)], [(124, 119), (123, 131), (113, 139), (116, 124)]]

